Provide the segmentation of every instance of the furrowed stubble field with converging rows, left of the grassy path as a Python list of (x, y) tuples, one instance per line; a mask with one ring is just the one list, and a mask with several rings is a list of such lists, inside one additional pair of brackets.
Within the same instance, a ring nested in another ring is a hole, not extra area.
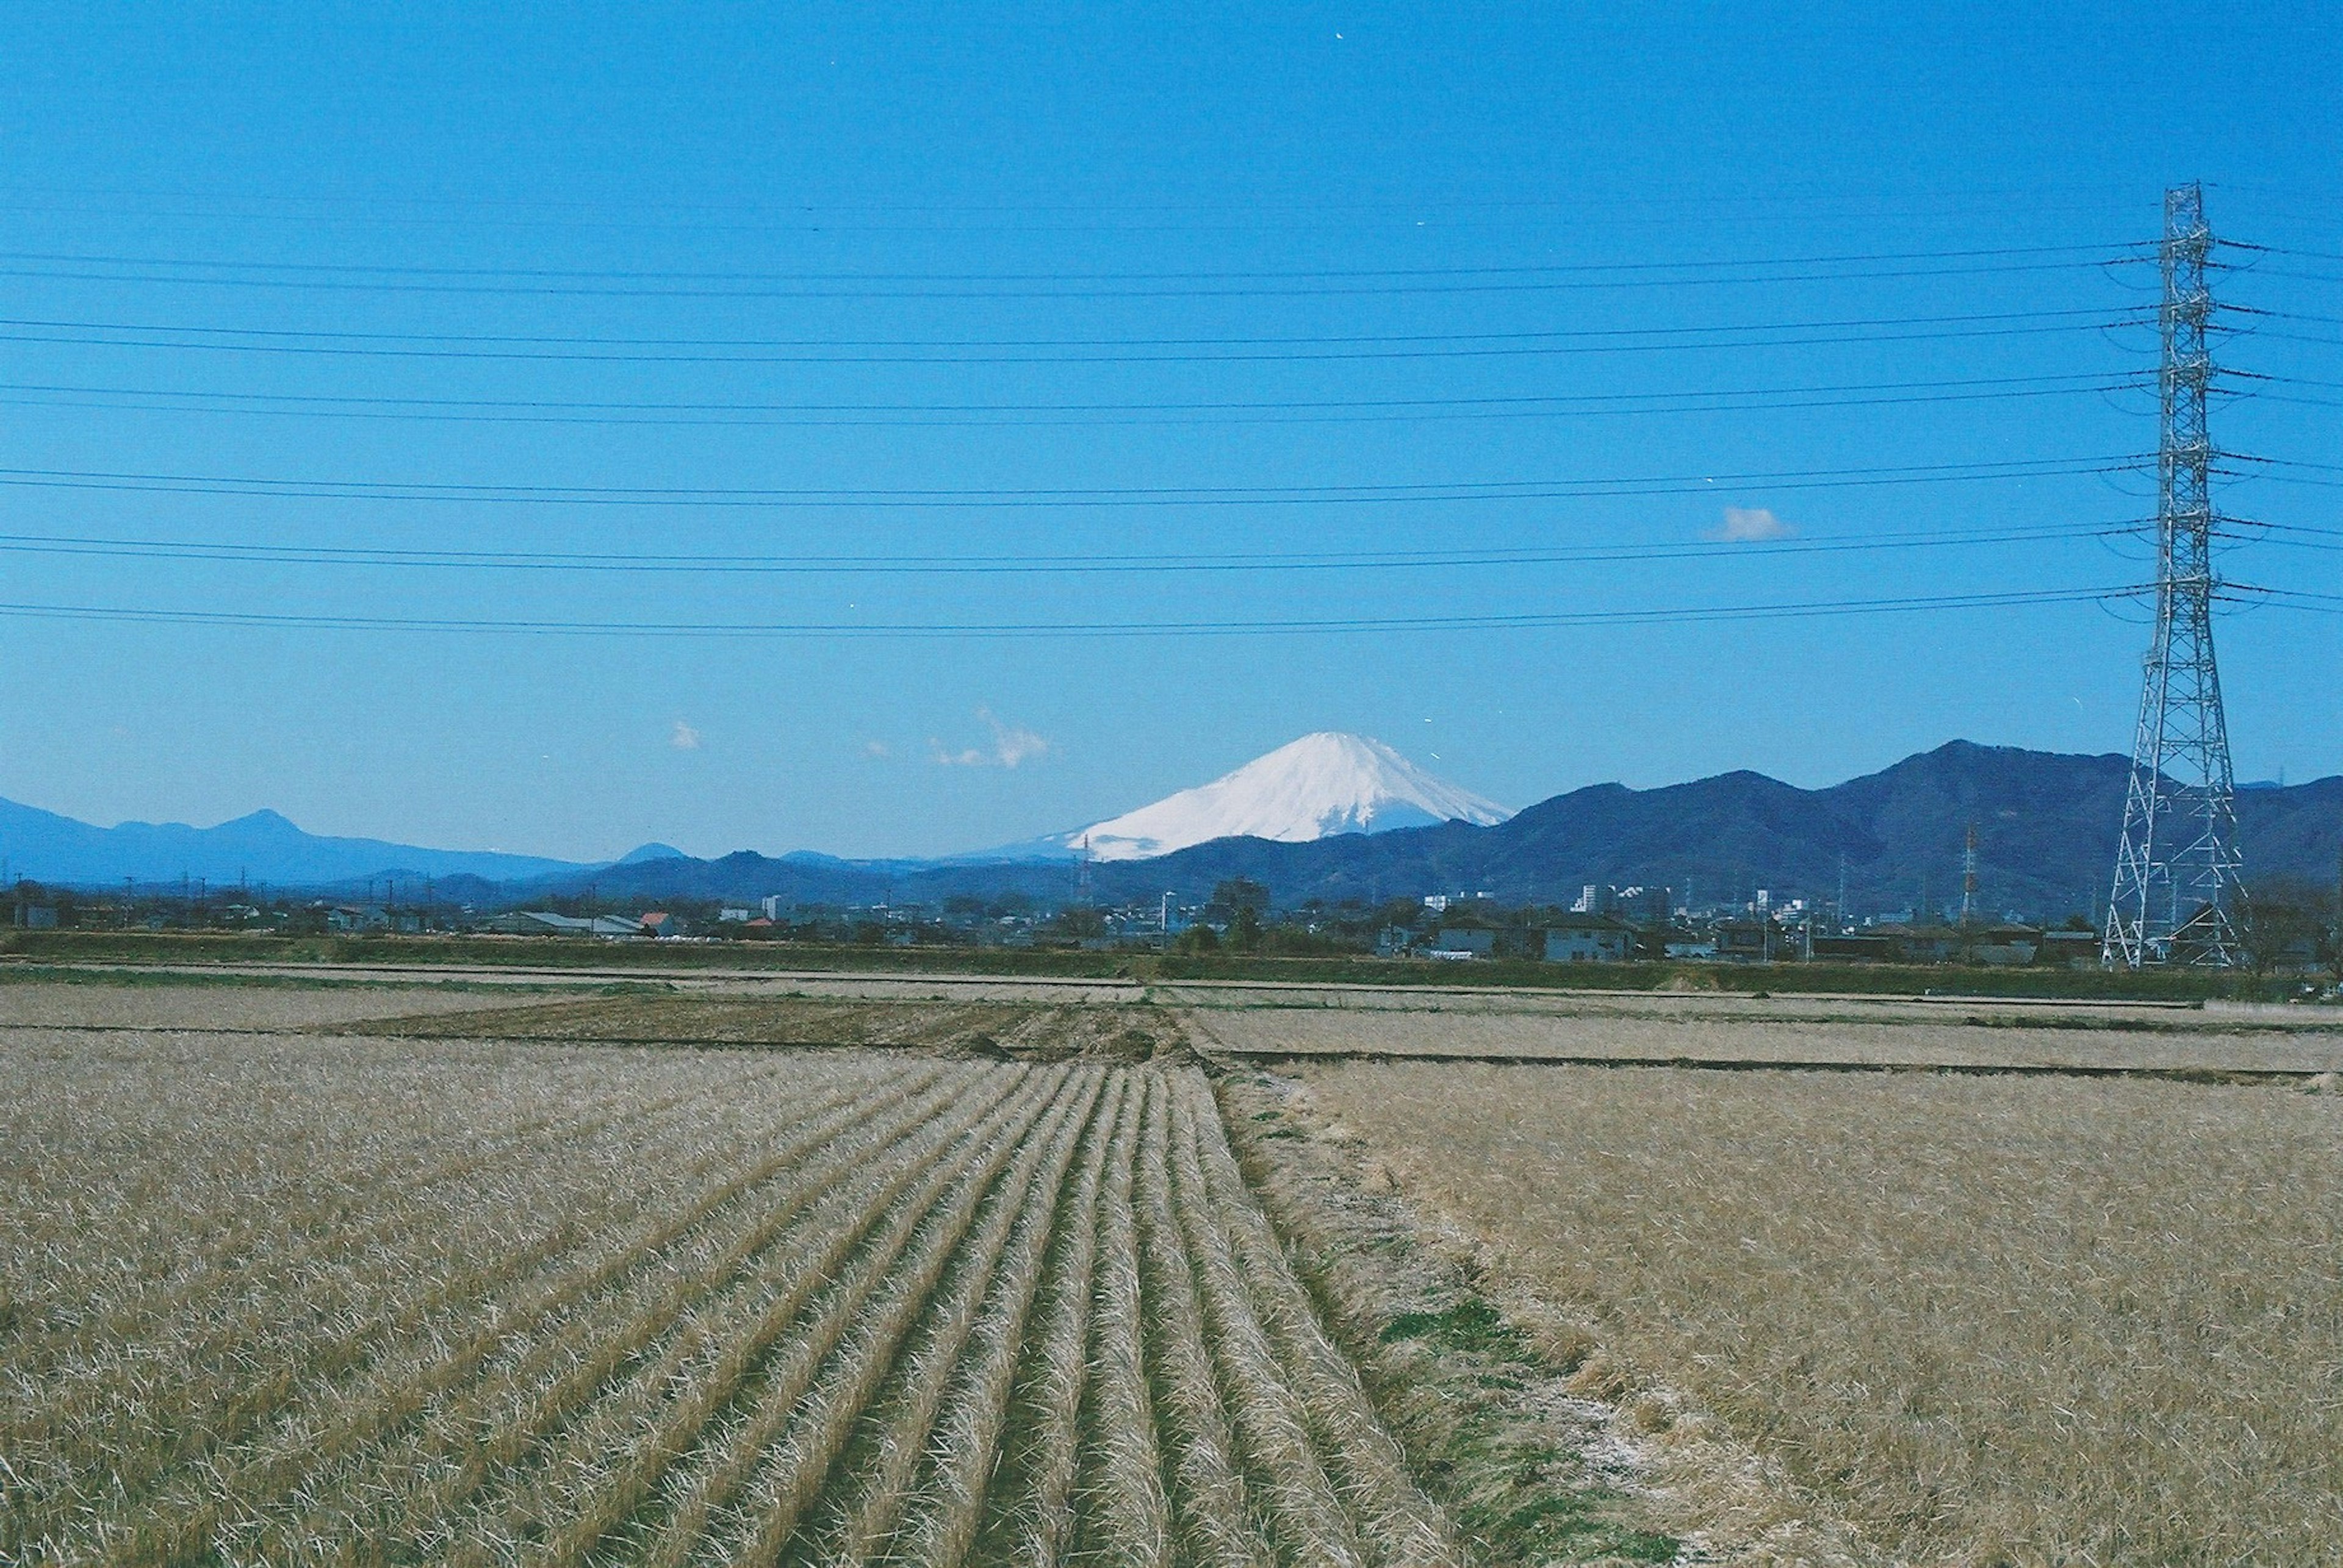
[(0, 1559), (1462, 1563), (1202, 1074), (1101, 1044), (52, 1039)]

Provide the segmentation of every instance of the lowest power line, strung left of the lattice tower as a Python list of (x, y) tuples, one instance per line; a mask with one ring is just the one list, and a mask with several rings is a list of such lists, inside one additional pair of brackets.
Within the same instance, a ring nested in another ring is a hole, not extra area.
[(476, 632), (511, 637), (827, 637), (827, 639), (1010, 639), (1010, 637), (1286, 637), (1345, 632), (1476, 632), (1596, 625), (1692, 625), (1799, 620), (1818, 615), (1898, 615), (1919, 611), (2104, 604), (2139, 587), (2024, 590), (1903, 599), (1813, 599), (1647, 611), (1551, 611), (1518, 615), (1345, 615), (1328, 620), (1089, 620), (1089, 623), (726, 623), (726, 620), (492, 620), (433, 615), (302, 615), (260, 611), (152, 611), (91, 604), (0, 604), (0, 615), (33, 620), (105, 620), (141, 625), (258, 627), (309, 632)]

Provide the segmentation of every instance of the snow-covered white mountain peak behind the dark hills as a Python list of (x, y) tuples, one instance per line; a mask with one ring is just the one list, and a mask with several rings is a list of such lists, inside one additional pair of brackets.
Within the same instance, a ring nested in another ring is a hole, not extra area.
[(1092, 859), (1136, 861), (1214, 838), (1307, 843), (1457, 819), (1488, 826), (1507, 817), (1502, 805), (1432, 777), (1380, 740), (1321, 730), (1059, 843), (1073, 850), (1087, 835)]

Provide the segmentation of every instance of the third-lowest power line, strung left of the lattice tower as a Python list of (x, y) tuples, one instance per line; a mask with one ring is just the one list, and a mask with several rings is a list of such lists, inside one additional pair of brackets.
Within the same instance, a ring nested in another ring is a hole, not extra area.
[(307, 501), (433, 501), (483, 506), (694, 506), (694, 508), (1207, 508), (1207, 506), (1394, 506), (1577, 501), (1624, 496), (1717, 494), (1720, 484), (1771, 489), (1844, 489), (2109, 475), (2139, 468), (2142, 454), (2083, 459), (2001, 459), (1977, 463), (1900, 463), (1874, 468), (1776, 468), (1708, 475), (1600, 480), (1467, 480), (1413, 484), (1183, 484), (1087, 489), (710, 489), (614, 484), (452, 484), (422, 480), (279, 480), (260, 475), (105, 473), (75, 468), (0, 468), (0, 484), (131, 494), (269, 496)]

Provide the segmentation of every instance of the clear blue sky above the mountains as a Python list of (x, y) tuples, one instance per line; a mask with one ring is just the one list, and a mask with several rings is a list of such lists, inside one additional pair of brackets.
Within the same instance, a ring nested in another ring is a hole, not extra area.
[[(2153, 269), (2106, 262), (2186, 178), (2219, 234), (2310, 253), (2231, 257), (2256, 267), (2226, 300), (2308, 321), (2224, 342), (2287, 381), (2216, 438), (2338, 461), (2324, 7), (977, 9), (9, 7), (0, 601), (1129, 627), (2134, 583), (2142, 550), (2090, 529), (2144, 517), (2146, 484), (2078, 468), (2153, 447), (2151, 398), (2111, 391), (2153, 332), (2106, 325)], [(1963, 477), (1734, 477), (1914, 466)], [(1539, 494), (1406, 489), (1497, 482)], [(1134, 494), (1258, 487), (1300, 498)], [(2216, 496), (2343, 524), (2334, 487)], [(1603, 550), (1626, 559), (1551, 559)], [(1343, 564), (1394, 555), (1418, 559)], [(1033, 569), (1099, 557), (1148, 569)], [(937, 562), (1015, 569), (900, 571)], [(2228, 557), (2322, 592), (2338, 566)], [(0, 796), (560, 857), (968, 850), (1319, 728), (1511, 805), (1825, 784), (1954, 735), (2123, 751), (2146, 637), (2097, 604), (1275, 637), (0, 627)], [(2240, 777), (2343, 768), (2343, 620), (2231, 613), (2219, 639)]]

